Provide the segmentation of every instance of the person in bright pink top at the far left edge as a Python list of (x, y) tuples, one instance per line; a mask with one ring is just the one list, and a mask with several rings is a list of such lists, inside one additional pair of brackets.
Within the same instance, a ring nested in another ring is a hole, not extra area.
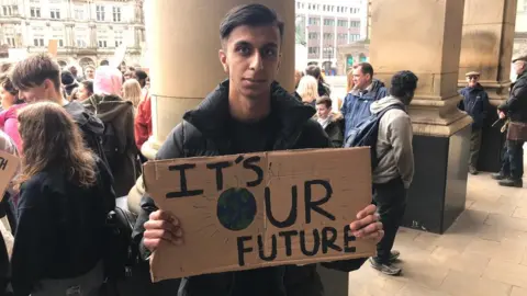
[(19, 135), (19, 121), (16, 114), (25, 106), (25, 102), (19, 99), (19, 90), (13, 87), (7, 75), (0, 76), (0, 98), (3, 111), (0, 113), (0, 129), (14, 141), (19, 152), (23, 152)]

